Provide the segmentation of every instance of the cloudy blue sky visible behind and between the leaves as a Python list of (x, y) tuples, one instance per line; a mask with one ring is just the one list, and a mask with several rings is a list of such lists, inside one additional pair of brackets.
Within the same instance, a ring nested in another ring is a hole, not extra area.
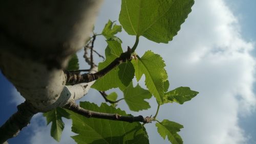
[[(160, 107), (160, 121), (169, 119), (184, 126), (179, 132), (184, 143), (256, 143), (255, 6), (256, 1), (251, 0), (196, 0), (192, 12), (173, 41), (159, 44), (140, 38), (136, 50), (139, 56), (152, 50), (163, 57), (170, 81), (169, 90), (188, 86), (200, 92), (183, 105), (166, 104)], [(120, 1), (105, 1), (95, 24), (95, 32), (100, 33), (109, 19), (118, 23), (119, 11)], [(118, 37), (123, 41), (124, 50), (135, 41), (135, 37), (127, 35), (124, 30)], [(104, 38), (97, 37), (95, 50), (104, 54), (105, 46)], [(82, 51), (78, 52), (78, 56), (80, 67), (86, 68)], [(0, 105), (1, 125), (24, 99), (2, 74), (0, 80), (0, 92), (4, 98)], [(144, 87), (143, 79), (139, 84)], [(122, 94), (118, 93), (122, 98)], [(104, 102), (94, 90), (81, 101), (98, 105)], [(148, 102), (151, 109), (131, 113), (155, 114), (155, 99)], [(118, 106), (129, 111), (122, 101)], [(66, 125), (60, 143), (74, 143), (70, 138), (75, 135), (71, 132), (72, 123), (68, 119), (63, 120)], [(168, 140), (160, 137), (154, 123), (145, 127), (150, 143), (168, 143)], [(9, 143), (57, 142), (50, 137), (50, 126), (46, 127), (45, 118), (37, 114), (30, 126), (10, 139)]]

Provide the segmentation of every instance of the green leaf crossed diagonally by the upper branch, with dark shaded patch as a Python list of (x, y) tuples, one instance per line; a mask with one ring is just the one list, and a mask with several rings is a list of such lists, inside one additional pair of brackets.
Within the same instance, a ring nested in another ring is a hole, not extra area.
[[(118, 58), (123, 53), (121, 44), (116, 40), (107, 40), (108, 46), (105, 50), (106, 60), (99, 63), (98, 69), (101, 70), (108, 66), (112, 61)], [(108, 74), (99, 78), (92, 86), (97, 90), (106, 91), (111, 88), (119, 87), (125, 89), (130, 84), (134, 77), (134, 67), (130, 61), (120, 64), (118, 67), (109, 71)]]

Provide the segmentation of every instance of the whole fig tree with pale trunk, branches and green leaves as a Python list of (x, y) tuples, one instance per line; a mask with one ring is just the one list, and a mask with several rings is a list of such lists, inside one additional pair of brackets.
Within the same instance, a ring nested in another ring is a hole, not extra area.
[[(183, 126), (167, 119), (159, 122), (158, 110), (165, 103), (183, 104), (198, 92), (188, 87), (168, 91), (161, 56), (145, 51), (140, 57), (135, 52), (140, 36), (158, 43), (172, 40), (193, 4), (193, 0), (122, 0), (121, 26), (110, 20), (101, 34), (93, 33), (89, 37), (100, 1), (2, 2), (0, 67), (26, 102), (18, 105), (18, 111), (0, 128), (0, 142), (26, 127), (35, 113), (45, 112), (48, 124), (52, 123), (51, 135), (56, 140), (60, 139), (64, 127), (61, 117), (66, 117), (72, 119), (72, 131), (78, 134), (73, 139), (78, 143), (148, 143), (144, 125), (152, 122), (156, 122), (163, 138), (167, 136), (172, 143), (182, 143), (177, 132)], [(126, 52), (121, 47), (121, 39), (115, 36), (122, 28), (136, 36), (135, 43), (128, 46)], [(97, 65), (93, 60), (93, 47), (99, 35), (105, 37), (108, 46), (105, 61)], [(74, 54), (82, 47), (90, 69), (79, 70), (77, 65)], [(81, 74), (81, 71), (88, 73)], [(142, 75), (145, 75), (147, 89), (134, 87), (132, 83), (134, 77), (139, 81)], [(117, 87), (124, 94), (120, 100), (132, 111), (149, 108), (144, 100), (154, 95), (158, 103), (156, 114), (132, 116), (116, 108), (120, 101), (116, 100), (116, 93), (105, 91)], [(111, 105), (76, 104), (75, 100), (91, 88), (98, 90)]]

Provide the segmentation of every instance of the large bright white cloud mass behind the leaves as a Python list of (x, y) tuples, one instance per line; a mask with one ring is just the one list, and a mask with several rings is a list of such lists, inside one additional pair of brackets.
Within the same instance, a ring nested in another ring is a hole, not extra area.
[[(96, 32), (101, 32), (109, 18), (118, 20), (120, 1), (115, 2), (105, 1)], [(134, 37), (125, 33), (119, 36), (124, 47), (133, 45)], [(95, 49), (101, 54), (105, 49), (102, 41), (99, 37), (95, 43)], [(159, 119), (183, 124), (180, 134), (184, 143), (245, 143), (248, 137), (238, 121), (239, 115), (249, 114), (255, 109), (255, 93), (252, 90), (255, 59), (250, 55), (254, 47), (253, 43), (243, 39), (237, 17), (222, 0), (197, 0), (181, 31), (169, 44), (141, 38), (138, 54), (152, 49), (164, 58), (170, 89), (189, 86), (200, 92), (198, 97), (184, 105), (164, 105), (160, 108)], [(83, 61), (82, 58), (80, 60)], [(89, 98), (97, 102), (95, 97)], [(152, 109), (139, 114), (155, 113), (155, 100), (150, 102)], [(127, 109), (124, 102), (119, 104), (122, 105), (123, 109)], [(67, 132), (65, 130), (62, 137), (71, 135), (70, 125), (70, 122), (66, 124)], [(146, 128), (151, 143), (168, 143), (158, 135), (154, 124), (148, 124)], [(35, 127), (31, 143), (54, 143), (49, 135), (49, 127)]]

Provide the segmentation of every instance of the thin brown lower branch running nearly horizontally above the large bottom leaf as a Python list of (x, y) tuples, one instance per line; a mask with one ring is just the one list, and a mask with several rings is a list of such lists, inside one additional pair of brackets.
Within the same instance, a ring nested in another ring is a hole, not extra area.
[(149, 116), (147, 117), (143, 117), (142, 115), (139, 115), (139, 116), (125, 115), (124, 116), (119, 114), (91, 111), (91, 110), (81, 108), (75, 102), (70, 102), (67, 105), (65, 105), (63, 108), (69, 109), (75, 113), (81, 114), (88, 118), (94, 117), (94, 118), (110, 119), (114, 121), (123, 121), (123, 122), (130, 122), (130, 123), (133, 123), (133, 122), (151, 123), (152, 121), (154, 121), (154, 119)]

